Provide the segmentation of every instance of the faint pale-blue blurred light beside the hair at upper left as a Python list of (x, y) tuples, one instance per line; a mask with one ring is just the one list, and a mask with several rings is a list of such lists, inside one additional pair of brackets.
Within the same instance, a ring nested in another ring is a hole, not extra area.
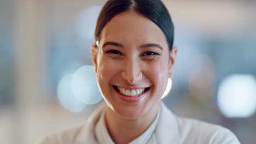
[(77, 32), (84, 39), (94, 39), (97, 18), (102, 6), (95, 5), (82, 11), (78, 16)]

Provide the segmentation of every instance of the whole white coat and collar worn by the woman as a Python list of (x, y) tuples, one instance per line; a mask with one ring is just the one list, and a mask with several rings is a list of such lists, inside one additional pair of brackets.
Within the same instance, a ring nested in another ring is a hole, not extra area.
[[(84, 125), (44, 136), (36, 144), (113, 143), (102, 120), (105, 107), (105, 104), (98, 107)], [(99, 130), (101, 128), (102, 130)], [(97, 131), (101, 132), (98, 133)], [(164, 103), (160, 103), (158, 116), (145, 134), (129, 144), (136, 143), (240, 144), (230, 130), (219, 125), (178, 117)]]

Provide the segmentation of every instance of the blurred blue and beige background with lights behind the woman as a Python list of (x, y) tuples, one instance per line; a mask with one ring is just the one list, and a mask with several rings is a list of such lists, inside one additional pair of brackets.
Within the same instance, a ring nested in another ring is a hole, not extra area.
[[(85, 65), (92, 64), (105, 2), (0, 0), (1, 143), (33, 143), (79, 125), (102, 103), (93, 67)], [(256, 1), (163, 2), (178, 46), (164, 103), (179, 116), (223, 125), (241, 143), (255, 143)]]

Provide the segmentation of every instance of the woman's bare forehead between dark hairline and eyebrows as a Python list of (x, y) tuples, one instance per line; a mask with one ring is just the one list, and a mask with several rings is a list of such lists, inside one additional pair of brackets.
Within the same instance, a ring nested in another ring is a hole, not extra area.
[(164, 33), (154, 22), (133, 11), (114, 16), (103, 28), (101, 40), (166, 42)]

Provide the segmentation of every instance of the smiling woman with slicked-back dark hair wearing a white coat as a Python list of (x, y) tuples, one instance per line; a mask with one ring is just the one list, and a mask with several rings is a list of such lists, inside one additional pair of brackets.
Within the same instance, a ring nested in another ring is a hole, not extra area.
[(38, 143), (240, 143), (223, 127), (173, 115), (161, 103), (177, 47), (159, 0), (110, 0), (98, 17), (92, 61), (106, 104), (78, 128)]

